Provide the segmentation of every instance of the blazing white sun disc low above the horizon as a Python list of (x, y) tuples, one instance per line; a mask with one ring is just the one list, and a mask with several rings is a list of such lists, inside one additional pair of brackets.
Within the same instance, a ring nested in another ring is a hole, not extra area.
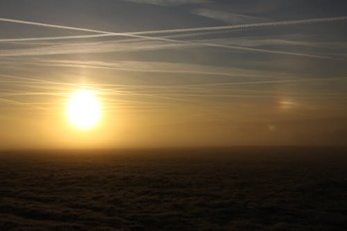
[(78, 90), (71, 94), (67, 102), (67, 119), (74, 128), (87, 130), (94, 128), (101, 117), (101, 105), (94, 92)]

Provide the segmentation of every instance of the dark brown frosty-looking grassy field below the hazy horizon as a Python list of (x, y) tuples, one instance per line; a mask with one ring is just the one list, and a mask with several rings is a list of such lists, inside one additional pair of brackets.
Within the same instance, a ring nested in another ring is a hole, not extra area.
[(0, 153), (0, 230), (347, 230), (347, 152)]

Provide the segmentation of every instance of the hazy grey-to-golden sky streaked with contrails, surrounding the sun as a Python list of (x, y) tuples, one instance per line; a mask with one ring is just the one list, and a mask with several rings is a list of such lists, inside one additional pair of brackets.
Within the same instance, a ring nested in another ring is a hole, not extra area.
[[(341, 146), (344, 0), (0, 0), (0, 148)], [(71, 92), (98, 126), (67, 123)]]

